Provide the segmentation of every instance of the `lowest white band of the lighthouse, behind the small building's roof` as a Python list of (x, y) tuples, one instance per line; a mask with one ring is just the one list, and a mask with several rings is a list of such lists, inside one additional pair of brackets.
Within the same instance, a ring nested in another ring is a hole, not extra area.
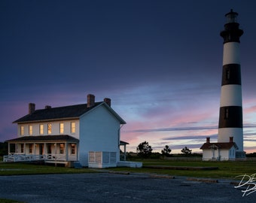
[(218, 142), (229, 142), (230, 137), (236, 142), (239, 151), (243, 151), (242, 128), (223, 128), (218, 129)]

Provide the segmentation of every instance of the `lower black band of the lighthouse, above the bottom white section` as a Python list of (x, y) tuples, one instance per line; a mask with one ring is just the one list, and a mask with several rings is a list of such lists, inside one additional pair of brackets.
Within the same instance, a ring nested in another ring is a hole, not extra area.
[(242, 128), (242, 107), (221, 107), (218, 128)]

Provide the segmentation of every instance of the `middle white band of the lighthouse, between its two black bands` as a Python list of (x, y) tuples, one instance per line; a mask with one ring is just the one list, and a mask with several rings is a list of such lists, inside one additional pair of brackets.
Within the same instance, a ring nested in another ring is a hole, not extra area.
[(241, 106), (242, 107), (242, 86), (224, 85), (221, 86), (221, 107)]

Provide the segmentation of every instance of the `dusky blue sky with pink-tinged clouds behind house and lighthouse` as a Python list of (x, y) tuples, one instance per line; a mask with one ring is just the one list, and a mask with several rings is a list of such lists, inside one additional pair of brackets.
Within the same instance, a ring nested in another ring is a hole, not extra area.
[(224, 15), (239, 13), (244, 150), (256, 152), (256, 2), (0, 1), (0, 141), (36, 109), (111, 98), (127, 151), (217, 141)]

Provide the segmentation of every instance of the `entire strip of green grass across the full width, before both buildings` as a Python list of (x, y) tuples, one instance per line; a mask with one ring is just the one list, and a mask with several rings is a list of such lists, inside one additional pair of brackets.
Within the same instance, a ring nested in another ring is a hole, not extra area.
[[(111, 171), (129, 171), (135, 173), (169, 174), (173, 176), (206, 177), (206, 178), (229, 178), (234, 179), (242, 174), (256, 173), (256, 162), (203, 162), (203, 161), (177, 161), (166, 159), (144, 159), (136, 160), (143, 162), (143, 166), (167, 165), (187, 167), (218, 167), (217, 170), (174, 170), (156, 168), (107, 168)], [(100, 171), (100, 170), (99, 170)], [(93, 173), (90, 168), (65, 168), (50, 165), (32, 165), (26, 163), (3, 163), (0, 162), (0, 175), (21, 175), (21, 174), (74, 174)], [(238, 178), (239, 179), (239, 178)], [(1, 201), (0, 201), (1, 203)]]

